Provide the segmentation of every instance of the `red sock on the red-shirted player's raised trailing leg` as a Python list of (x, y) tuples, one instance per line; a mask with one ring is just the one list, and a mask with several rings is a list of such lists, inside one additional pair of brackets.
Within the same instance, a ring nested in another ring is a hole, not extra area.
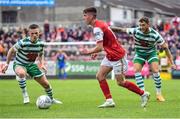
[(139, 95), (143, 95), (144, 91), (141, 90), (138, 86), (136, 86), (134, 83), (130, 82), (130, 81), (125, 81), (124, 85), (122, 85), (122, 87), (127, 88), (128, 90), (139, 94)]

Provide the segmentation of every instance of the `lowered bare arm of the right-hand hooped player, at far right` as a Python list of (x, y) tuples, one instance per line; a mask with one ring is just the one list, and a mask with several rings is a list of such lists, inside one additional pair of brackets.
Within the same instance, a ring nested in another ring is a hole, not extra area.
[(173, 69), (176, 69), (176, 65), (174, 64), (173, 56), (172, 56), (171, 52), (169, 51), (168, 44), (165, 42), (165, 43), (163, 43), (163, 44), (161, 45), (161, 47), (165, 50), (166, 55), (167, 55), (167, 57), (168, 57), (168, 59), (169, 59), (169, 61), (170, 61), (170, 63), (171, 63), (171, 67), (172, 67)]

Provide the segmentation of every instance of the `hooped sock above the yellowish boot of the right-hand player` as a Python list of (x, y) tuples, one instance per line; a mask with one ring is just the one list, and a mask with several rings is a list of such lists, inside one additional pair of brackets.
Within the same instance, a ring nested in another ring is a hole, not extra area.
[(156, 93), (161, 94), (161, 78), (159, 73), (153, 73), (153, 79), (156, 86)]

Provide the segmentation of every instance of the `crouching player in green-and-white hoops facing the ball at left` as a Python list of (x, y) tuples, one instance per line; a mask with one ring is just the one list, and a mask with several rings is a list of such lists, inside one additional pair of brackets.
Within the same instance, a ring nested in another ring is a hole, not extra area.
[(7, 54), (6, 65), (3, 67), (2, 72), (5, 73), (8, 69), (10, 60), (13, 54), (16, 54), (13, 64), (14, 72), (16, 73), (19, 86), (22, 89), (24, 104), (29, 103), (29, 96), (26, 88), (26, 75), (33, 77), (44, 89), (46, 94), (52, 99), (52, 103), (59, 103), (53, 98), (52, 88), (45, 76), (45, 74), (35, 64), (35, 60), (38, 59), (40, 66), (46, 71), (44, 66), (44, 43), (39, 39), (40, 29), (36, 24), (29, 26), (29, 36), (19, 40)]

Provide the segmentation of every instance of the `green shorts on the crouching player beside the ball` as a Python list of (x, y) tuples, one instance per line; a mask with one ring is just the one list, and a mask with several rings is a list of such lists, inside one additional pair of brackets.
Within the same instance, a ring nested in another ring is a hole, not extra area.
[(14, 63), (13, 64), (13, 70), (15, 72), (15, 68), (17, 66), (21, 66), (22, 68), (24, 68), (26, 70), (26, 72), (29, 74), (29, 76), (31, 77), (35, 77), (35, 78), (38, 78), (38, 77), (41, 77), (44, 75), (44, 73), (38, 68), (37, 64), (27, 64), (27, 65), (23, 65), (23, 64), (17, 64), (17, 63)]

